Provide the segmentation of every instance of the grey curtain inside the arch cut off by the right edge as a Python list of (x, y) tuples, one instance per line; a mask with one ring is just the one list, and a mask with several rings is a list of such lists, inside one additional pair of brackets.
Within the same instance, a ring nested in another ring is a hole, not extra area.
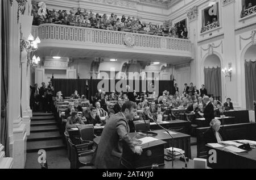
[(253, 101), (256, 101), (256, 61), (245, 61), (245, 94), (246, 108), (253, 110)]

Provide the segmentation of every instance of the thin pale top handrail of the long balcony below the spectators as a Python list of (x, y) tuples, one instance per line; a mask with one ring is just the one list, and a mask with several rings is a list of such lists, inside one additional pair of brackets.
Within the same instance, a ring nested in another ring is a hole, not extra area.
[(155, 35), (146, 35), (146, 34), (139, 34), (139, 33), (133, 33), (133, 32), (124, 32), (124, 31), (112, 31), (112, 30), (102, 30), (97, 28), (89, 28), (89, 27), (79, 27), (79, 26), (68, 26), (63, 24), (40, 24), (39, 26), (33, 26), (33, 27), (43, 27), (43, 26), (61, 26), (61, 27), (67, 27), (67, 28), (77, 28), (81, 30), (91, 30), (91, 31), (103, 31), (103, 32), (117, 32), (119, 34), (131, 34), (131, 35), (141, 35), (141, 36), (148, 36), (148, 37), (158, 37), (159, 39), (174, 39), (174, 40), (181, 40), (181, 41), (188, 41), (191, 42), (188, 39), (181, 39), (181, 38), (175, 38), (175, 37), (165, 37), (165, 36), (155, 36)]

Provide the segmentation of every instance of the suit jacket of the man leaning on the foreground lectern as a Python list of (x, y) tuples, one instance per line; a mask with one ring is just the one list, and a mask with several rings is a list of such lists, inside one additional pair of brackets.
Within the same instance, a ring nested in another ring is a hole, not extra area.
[(131, 149), (134, 149), (133, 141), (128, 135), (129, 132), (129, 124), (121, 112), (113, 115), (108, 120), (102, 132), (97, 152), (94, 154), (96, 168), (120, 168), (119, 160), (122, 155), (122, 143), (126, 143)]

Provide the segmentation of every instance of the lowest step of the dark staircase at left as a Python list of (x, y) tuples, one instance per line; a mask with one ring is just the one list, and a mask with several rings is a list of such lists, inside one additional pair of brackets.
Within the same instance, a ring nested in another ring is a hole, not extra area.
[(40, 149), (56, 150), (63, 149), (65, 145), (62, 140), (46, 140), (46, 141), (32, 141), (27, 142), (27, 152), (38, 152)]

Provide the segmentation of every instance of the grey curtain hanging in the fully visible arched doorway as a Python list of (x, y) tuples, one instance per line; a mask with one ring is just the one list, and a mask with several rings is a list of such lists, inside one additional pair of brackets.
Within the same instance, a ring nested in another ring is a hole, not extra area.
[(221, 68), (204, 68), (204, 83), (208, 94), (221, 97)]

